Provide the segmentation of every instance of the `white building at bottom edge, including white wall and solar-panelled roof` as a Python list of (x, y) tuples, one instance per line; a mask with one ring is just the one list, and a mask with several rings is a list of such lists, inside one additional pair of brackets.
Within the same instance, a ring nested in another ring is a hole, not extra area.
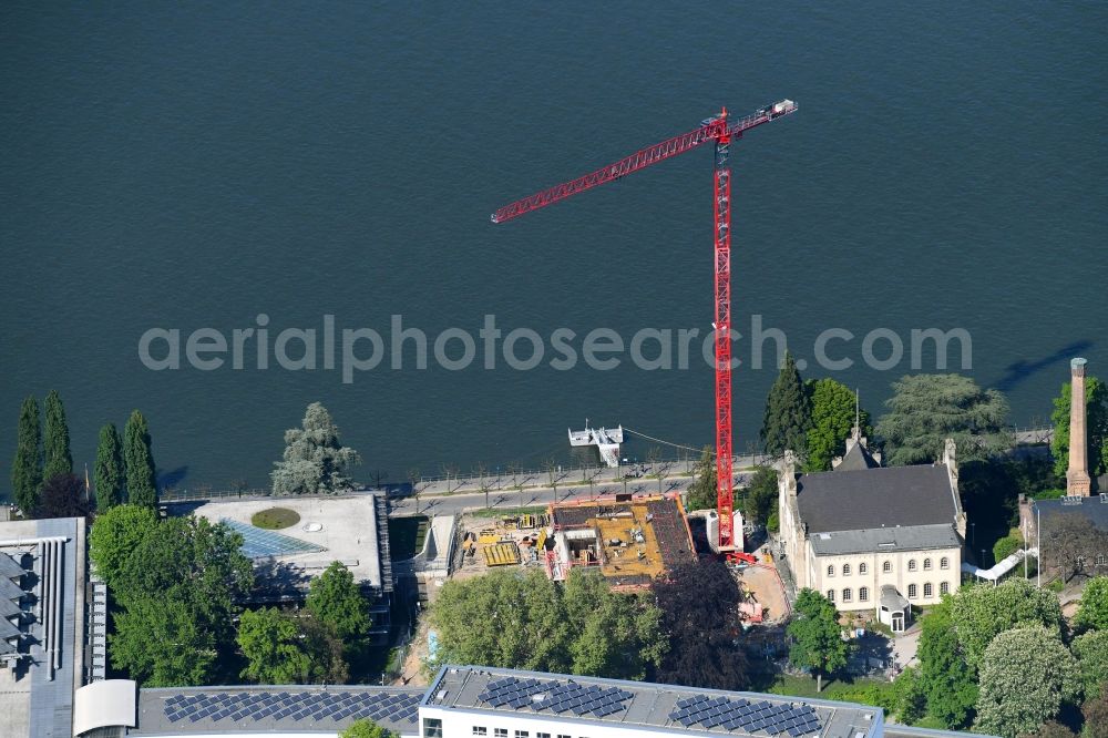
[(443, 668), (420, 715), (424, 735), (430, 718), (443, 736), (876, 738), (884, 724), (881, 708), (848, 703), (481, 667)]

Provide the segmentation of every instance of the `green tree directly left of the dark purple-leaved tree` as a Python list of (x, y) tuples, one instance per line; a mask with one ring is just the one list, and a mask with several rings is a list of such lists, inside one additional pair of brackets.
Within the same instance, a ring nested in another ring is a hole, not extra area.
[(571, 674), (642, 680), (661, 663), (661, 611), (645, 595), (612, 592), (598, 573), (575, 572), (563, 596), (579, 634), (570, 645)]

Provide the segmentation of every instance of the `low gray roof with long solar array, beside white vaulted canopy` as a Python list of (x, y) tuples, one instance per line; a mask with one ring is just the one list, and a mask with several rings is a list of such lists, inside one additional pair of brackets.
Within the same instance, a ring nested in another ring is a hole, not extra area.
[(422, 689), (348, 685), (140, 689), (138, 725), (127, 735), (335, 735), (362, 717), (414, 735), (422, 698)]

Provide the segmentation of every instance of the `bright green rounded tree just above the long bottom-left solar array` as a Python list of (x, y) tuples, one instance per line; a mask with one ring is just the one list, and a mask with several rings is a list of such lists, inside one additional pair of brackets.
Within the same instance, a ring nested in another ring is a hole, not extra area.
[(276, 607), (245, 611), (237, 642), (247, 659), (245, 678), (258, 684), (302, 684), (308, 679), (311, 660), (301, 646), (300, 628)]

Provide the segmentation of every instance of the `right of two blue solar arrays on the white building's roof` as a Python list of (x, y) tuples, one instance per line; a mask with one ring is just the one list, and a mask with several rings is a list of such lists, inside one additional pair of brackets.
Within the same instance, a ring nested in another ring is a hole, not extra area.
[(811, 705), (794, 707), (784, 703), (706, 695), (678, 699), (669, 719), (686, 728), (700, 725), (708, 729), (722, 727), (743, 732), (763, 730), (772, 736), (788, 734), (792, 738), (818, 735), (822, 729)]

